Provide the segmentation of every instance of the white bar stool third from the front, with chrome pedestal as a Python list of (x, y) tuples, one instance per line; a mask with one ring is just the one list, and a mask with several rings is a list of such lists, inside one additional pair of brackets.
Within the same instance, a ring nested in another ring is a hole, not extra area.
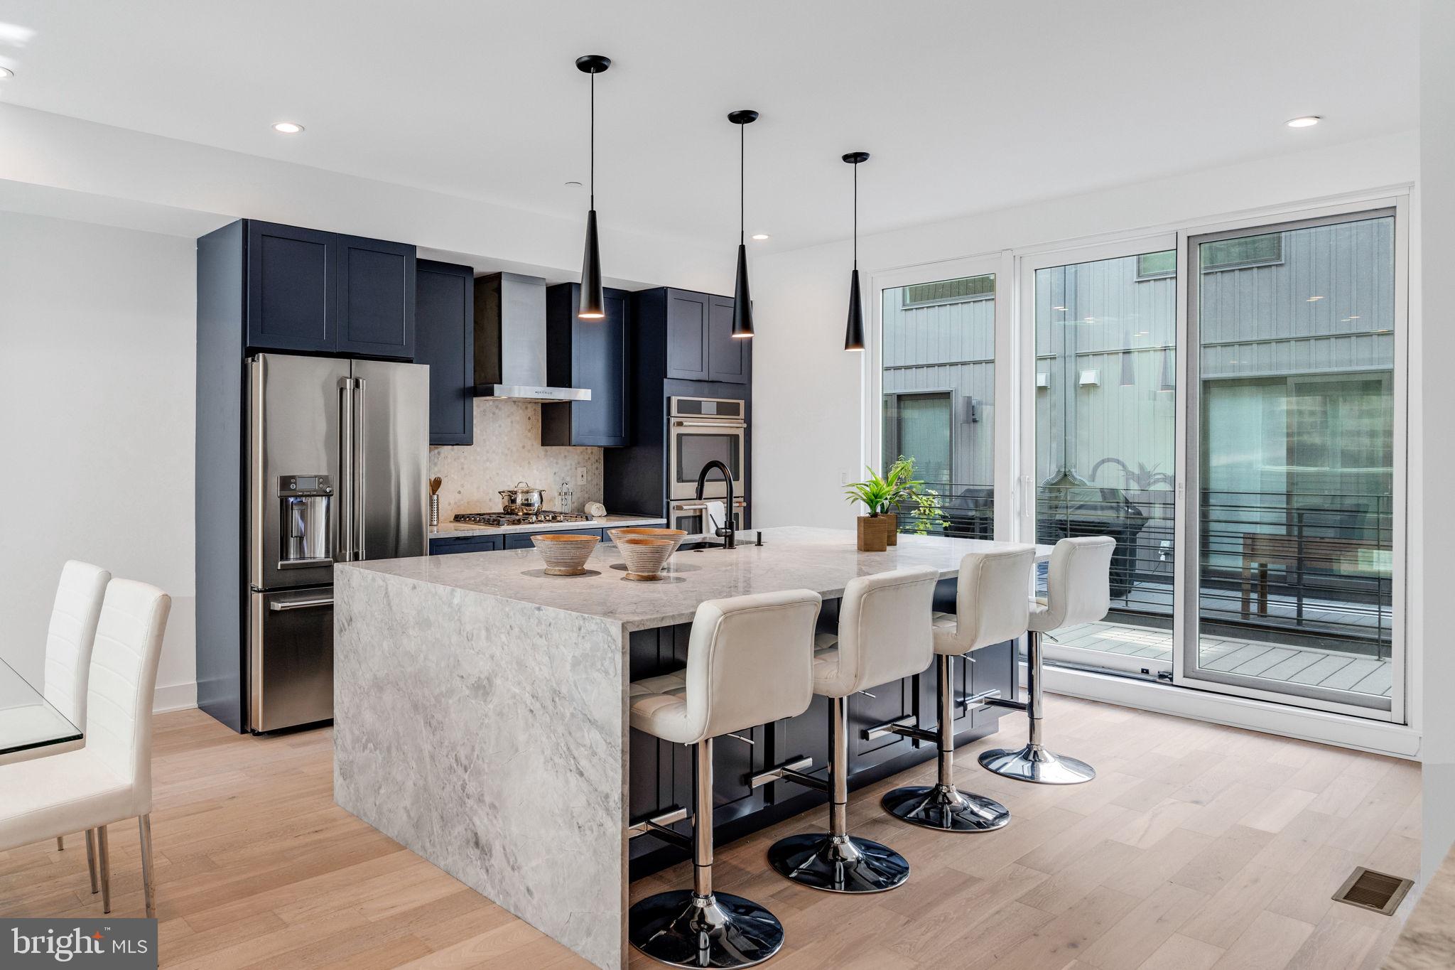
[[(1016, 640), (1026, 633), (1026, 589), (1036, 561), (1032, 545), (994, 553), (970, 553), (960, 560), (956, 582), (956, 615), (936, 614), (934, 653), (938, 659), (940, 723), (934, 731), (886, 724), (883, 730), (934, 740), (940, 772), (933, 785), (895, 788), (883, 797), (885, 811), (911, 825), (941, 832), (991, 832), (1010, 823), (1010, 810), (998, 801), (954, 787), (953, 659), (981, 647)], [(973, 660), (970, 660), (973, 663)], [(975, 705), (995, 692), (965, 698)]]

